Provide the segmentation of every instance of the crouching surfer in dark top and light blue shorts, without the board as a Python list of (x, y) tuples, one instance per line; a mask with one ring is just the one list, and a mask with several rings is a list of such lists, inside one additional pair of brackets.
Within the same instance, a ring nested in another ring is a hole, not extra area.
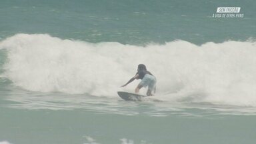
[(141, 89), (141, 87), (148, 87), (147, 96), (151, 96), (152, 91), (154, 91), (154, 93), (156, 92), (157, 79), (154, 75), (152, 75), (152, 73), (147, 71), (147, 67), (145, 65), (139, 64), (135, 76), (132, 77), (127, 83), (125, 83), (125, 85), (122, 85), (121, 87), (125, 87), (135, 79), (141, 79), (141, 82), (135, 89), (135, 93), (139, 93), (139, 89)]

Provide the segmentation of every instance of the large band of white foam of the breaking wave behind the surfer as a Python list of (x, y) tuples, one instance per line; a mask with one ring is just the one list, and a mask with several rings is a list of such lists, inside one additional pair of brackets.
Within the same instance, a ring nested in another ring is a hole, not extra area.
[(0, 49), (7, 49), (8, 54), (5, 75), (30, 91), (116, 97), (118, 90), (133, 91), (139, 81), (119, 86), (144, 63), (157, 77), (159, 99), (256, 105), (253, 41), (200, 46), (172, 41), (141, 47), (17, 34), (1, 41)]

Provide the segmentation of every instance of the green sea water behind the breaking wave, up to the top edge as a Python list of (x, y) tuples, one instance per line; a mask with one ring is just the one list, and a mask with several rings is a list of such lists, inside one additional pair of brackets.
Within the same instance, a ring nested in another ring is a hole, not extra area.
[[(241, 7), (243, 18), (216, 19), (217, 7)], [(129, 44), (193, 43), (255, 37), (255, 2), (247, 1), (1, 1), (1, 38), (49, 33), (64, 39)]]

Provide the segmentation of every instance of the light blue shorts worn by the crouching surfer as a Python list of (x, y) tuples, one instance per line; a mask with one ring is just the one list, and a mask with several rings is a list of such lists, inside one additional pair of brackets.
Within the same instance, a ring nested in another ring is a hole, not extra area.
[(141, 80), (141, 82), (139, 83), (139, 85), (141, 85), (143, 87), (148, 86), (148, 89), (153, 91), (153, 90), (155, 90), (156, 83), (157, 83), (157, 79), (155, 78), (155, 76), (146, 74), (143, 77), (143, 79)]

